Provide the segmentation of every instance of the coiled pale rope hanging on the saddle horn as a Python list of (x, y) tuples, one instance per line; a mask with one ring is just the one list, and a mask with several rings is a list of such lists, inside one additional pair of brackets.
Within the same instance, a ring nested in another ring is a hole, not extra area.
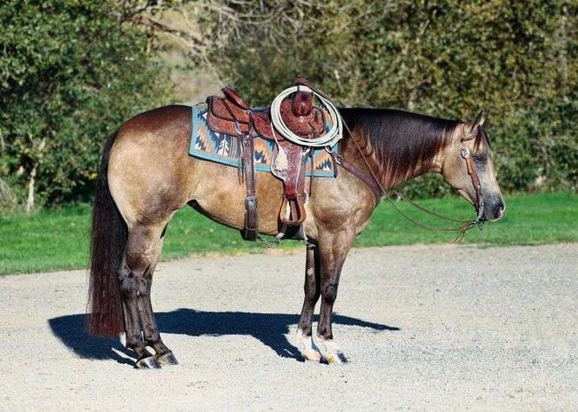
[[(327, 109), (329, 117), (332, 120), (332, 127), (324, 135), (319, 136), (318, 138), (311, 138), (311, 139), (301, 138), (300, 136), (293, 133), (293, 131), (291, 131), (283, 121), (283, 118), (281, 117), (281, 102), (287, 96), (297, 91), (309, 91), (313, 93), (313, 95), (315, 95), (317, 99), (319, 99), (321, 104), (325, 106), (325, 109)], [(312, 90), (311, 88), (303, 84), (298, 84), (296, 86), (285, 89), (285, 91), (281, 91), (277, 95), (277, 97), (273, 100), (273, 103), (271, 103), (270, 113), (271, 113), (271, 123), (273, 124), (273, 126), (275, 126), (275, 129), (277, 129), (278, 133), (281, 134), (281, 136), (283, 136), (285, 139), (299, 146), (333, 147), (343, 137), (343, 123), (337, 107), (333, 105), (331, 100), (326, 99), (322, 93)]]

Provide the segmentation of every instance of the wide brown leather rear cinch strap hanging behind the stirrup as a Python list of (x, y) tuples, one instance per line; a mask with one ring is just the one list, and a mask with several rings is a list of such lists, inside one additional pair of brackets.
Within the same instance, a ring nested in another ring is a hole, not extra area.
[(257, 196), (255, 195), (255, 164), (253, 158), (253, 137), (251, 132), (240, 134), (243, 145), (243, 170), (247, 187), (245, 198), (245, 227), (241, 236), (245, 241), (256, 241), (259, 235), (257, 219)]

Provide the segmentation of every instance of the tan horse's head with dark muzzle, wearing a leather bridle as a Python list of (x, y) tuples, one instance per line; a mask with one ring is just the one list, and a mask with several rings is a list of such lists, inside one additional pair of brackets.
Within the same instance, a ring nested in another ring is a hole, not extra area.
[(482, 111), (471, 122), (460, 123), (447, 147), (442, 175), (462, 196), (476, 206), (479, 218), (498, 220), (506, 210), (500, 186), (495, 177), (494, 155), (490, 149)]

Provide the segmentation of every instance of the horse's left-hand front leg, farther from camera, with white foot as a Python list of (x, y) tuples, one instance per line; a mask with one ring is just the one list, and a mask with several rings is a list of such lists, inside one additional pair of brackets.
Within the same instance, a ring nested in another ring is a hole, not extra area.
[(297, 341), (305, 361), (321, 361), (321, 353), (311, 338), (313, 312), (319, 300), (319, 252), (316, 245), (308, 244), (305, 259), (305, 299), (301, 309), (301, 319), (297, 327)]

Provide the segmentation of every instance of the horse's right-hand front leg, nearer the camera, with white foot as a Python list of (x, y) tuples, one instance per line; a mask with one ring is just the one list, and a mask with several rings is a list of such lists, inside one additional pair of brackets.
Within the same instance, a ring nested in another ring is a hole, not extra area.
[(341, 268), (355, 240), (348, 229), (319, 235), (321, 309), (317, 324), (317, 342), (328, 363), (343, 363), (347, 359), (333, 341), (333, 305), (337, 298)]

